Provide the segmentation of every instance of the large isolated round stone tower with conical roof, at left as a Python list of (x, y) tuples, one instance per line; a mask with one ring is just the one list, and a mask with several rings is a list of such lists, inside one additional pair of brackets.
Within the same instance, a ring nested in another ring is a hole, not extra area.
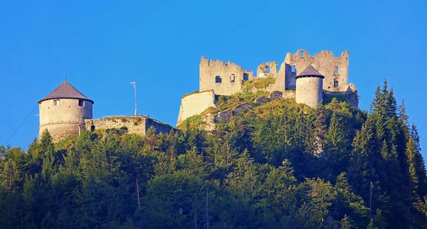
[(75, 136), (86, 129), (85, 119), (92, 119), (93, 101), (67, 81), (38, 101), (40, 127), (38, 138), (48, 130), (53, 142)]

